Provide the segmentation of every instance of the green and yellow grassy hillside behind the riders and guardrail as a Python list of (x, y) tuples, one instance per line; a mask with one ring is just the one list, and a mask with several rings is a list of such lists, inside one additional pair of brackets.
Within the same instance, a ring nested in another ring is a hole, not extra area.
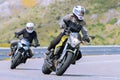
[[(117, 18), (103, 23), (108, 10), (120, 11), (119, 6), (116, 6), (118, 2), (119, 0), (65, 0), (65, 2), (56, 1), (47, 7), (36, 5), (26, 8), (21, 13), (10, 16), (4, 21), (1, 19), (1, 25), (4, 27), (0, 30), (0, 34), (2, 34), (0, 46), (9, 46), (7, 42), (13, 39), (14, 32), (24, 28), (26, 22), (36, 24), (35, 30), (41, 46), (48, 46), (50, 41), (60, 33), (59, 20), (64, 15), (71, 13), (73, 7), (78, 4), (87, 8), (85, 18), (89, 34), (96, 36), (92, 41), (93, 45), (120, 44), (120, 26), (114, 25)], [(95, 21), (90, 19), (92, 14), (98, 15)]]

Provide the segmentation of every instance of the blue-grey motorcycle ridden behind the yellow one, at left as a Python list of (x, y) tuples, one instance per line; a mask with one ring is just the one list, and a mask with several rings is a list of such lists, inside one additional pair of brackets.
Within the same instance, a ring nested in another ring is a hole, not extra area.
[(11, 69), (15, 69), (19, 64), (25, 63), (27, 58), (30, 56), (28, 50), (31, 46), (34, 45), (31, 45), (30, 42), (24, 38), (18, 41), (16, 45), (11, 46), (13, 51), (11, 56)]

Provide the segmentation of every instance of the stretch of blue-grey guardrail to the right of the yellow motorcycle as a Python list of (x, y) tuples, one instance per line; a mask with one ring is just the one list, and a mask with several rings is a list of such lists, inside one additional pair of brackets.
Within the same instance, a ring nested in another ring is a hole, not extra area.
[(82, 46), (83, 54), (120, 54), (119, 45)]

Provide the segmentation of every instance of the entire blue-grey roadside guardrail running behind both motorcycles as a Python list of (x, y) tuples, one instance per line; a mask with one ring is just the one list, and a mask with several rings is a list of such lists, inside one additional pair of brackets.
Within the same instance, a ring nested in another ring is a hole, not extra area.
[[(33, 52), (35, 53), (34, 57), (43, 57), (44, 52), (46, 51), (47, 47), (38, 47), (32, 48)], [(97, 55), (97, 54), (120, 54), (120, 46), (119, 45), (89, 45), (89, 46), (81, 46), (80, 47), (82, 54), (87, 55)], [(9, 57), (6, 56), (7, 53), (10, 51), (9, 48), (0, 48), (0, 58)]]

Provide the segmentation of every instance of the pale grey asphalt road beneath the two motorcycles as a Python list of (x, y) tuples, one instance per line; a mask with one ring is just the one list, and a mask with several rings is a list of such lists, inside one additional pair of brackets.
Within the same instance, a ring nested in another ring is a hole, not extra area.
[(83, 56), (63, 76), (44, 75), (43, 58), (29, 59), (11, 70), (10, 60), (0, 61), (0, 80), (120, 80), (120, 55)]

